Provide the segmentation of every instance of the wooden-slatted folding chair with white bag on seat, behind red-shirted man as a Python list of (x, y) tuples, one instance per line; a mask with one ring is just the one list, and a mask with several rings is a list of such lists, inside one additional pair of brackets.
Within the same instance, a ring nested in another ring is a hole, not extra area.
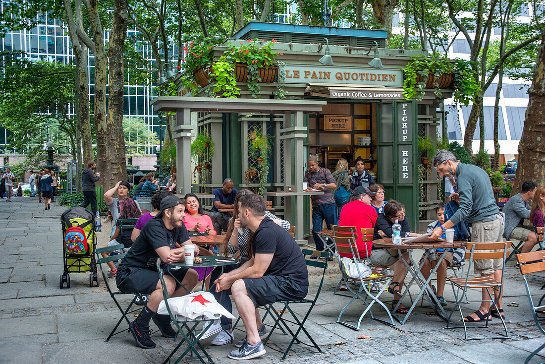
[[(395, 324), (393, 323), (393, 318), (390, 313), (390, 310), (379, 299), (380, 295), (383, 294), (388, 284), (390, 284), (390, 282), (392, 281), (393, 275), (381, 274), (381, 275), (371, 275), (370, 277), (366, 277), (366, 278), (361, 277), (360, 267), (358, 266), (357, 263), (364, 263), (364, 262), (360, 258), (358, 246), (356, 245), (356, 242), (355, 242), (356, 228), (354, 226), (331, 225), (331, 229), (333, 229), (333, 240), (335, 241), (335, 247), (337, 249), (337, 252), (352, 255), (353, 261), (356, 262), (356, 270), (358, 271), (358, 277), (349, 277), (347, 275), (346, 270), (344, 270), (343, 265), (342, 264), (340, 265), (341, 273), (342, 273), (341, 279), (347, 285), (348, 290), (353, 294), (353, 296), (352, 296), (352, 299), (346, 304), (346, 306), (344, 306), (344, 308), (339, 313), (337, 318), (337, 324), (341, 324), (341, 325), (350, 327), (350, 329), (359, 331), (361, 320), (364, 318), (365, 314), (369, 312), (370, 317), (373, 320), (377, 320), (382, 323), (395, 326)], [(362, 240), (365, 241), (365, 235), (362, 235)], [(367, 245), (365, 249), (367, 251)], [(350, 287), (350, 283), (354, 283), (356, 290), (353, 290)], [(376, 295), (373, 295), (371, 293), (371, 287), (372, 285), (377, 283), (382, 283), (383, 286), (378, 290), (378, 293)], [(364, 296), (362, 296), (362, 294), (364, 294)], [(366, 297), (369, 297), (371, 299), (371, 302), (368, 302)], [(366, 306), (364, 312), (360, 315), (360, 318), (358, 320), (358, 326), (350, 325), (344, 321), (341, 321), (341, 317), (344, 311), (346, 311), (348, 306), (350, 306), (350, 304), (354, 302), (356, 299), (360, 299), (362, 302), (364, 302), (364, 305)], [(385, 309), (385, 311), (388, 314), (388, 317), (390, 318), (390, 322), (373, 316), (371, 307), (373, 306), (375, 302), (378, 302), (378, 304)]]

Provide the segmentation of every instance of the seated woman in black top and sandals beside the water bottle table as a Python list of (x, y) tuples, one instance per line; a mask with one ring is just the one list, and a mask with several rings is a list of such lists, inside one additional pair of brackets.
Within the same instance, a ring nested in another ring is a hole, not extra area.
[[(396, 200), (389, 200), (384, 206), (384, 213), (380, 213), (374, 228), (373, 240), (378, 240), (383, 237), (392, 237), (392, 225), (396, 222), (401, 225), (401, 236), (419, 236), (410, 232), (409, 219), (405, 218), (405, 206)], [(399, 253), (403, 254), (406, 261), (409, 260), (409, 255), (405, 250), (377, 248), (374, 244), (371, 247), (371, 255), (369, 262), (373, 265), (382, 265), (390, 267), (393, 271), (393, 282), (388, 286), (387, 291), (393, 294), (392, 309), (396, 307), (397, 302), (401, 299), (401, 287), (403, 287), (403, 279), (407, 275), (407, 267), (399, 259)], [(407, 308), (399, 305), (396, 313), (406, 314)]]

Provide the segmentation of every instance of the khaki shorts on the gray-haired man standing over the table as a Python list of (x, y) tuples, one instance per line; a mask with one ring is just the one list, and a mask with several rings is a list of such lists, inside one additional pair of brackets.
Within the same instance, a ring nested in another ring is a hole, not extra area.
[[(503, 215), (497, 219), (485, 222), (476, 222), (471, 226), (471, 241), (479, 243), (494, 243), (504, 241), (503, 233), (505, 220)], [(499, 250), (475, 250), (479, 252), (492, 252)], [(476, 275), (492, 275), (503, 267), (503, 259), (477, 259), (473, 261)]]

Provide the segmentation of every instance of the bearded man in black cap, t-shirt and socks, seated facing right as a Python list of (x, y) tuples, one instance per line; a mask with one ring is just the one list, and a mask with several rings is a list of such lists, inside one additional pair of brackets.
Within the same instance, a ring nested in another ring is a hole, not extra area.
[[(169, 316), (156, 314), (163, 295), (155, 263), (157, 258), (169, 263), (184, 259), (183, 246), (191, 244), (184, 225), (184, 208), (184, 199), (178, 199), (176, 196), (164, 198), (161, 201), (160, 212), (144, 225), (117, 269), (116, 283), (122, 292), (150, 295), (146, 307), (129, 325), (136, 344), (144, 349), (155, 348), (155, 343), (149, 336), (149, 320), (152, 318), (164, 337), (172, 338), (176, 334), (170, 325)], [(198, 251), (198, 247), (195, 250)], [(198, 273), (195, 270), (188, 268), (171, 270), (165, 264), (162, 269), (171, 297), (187, 293), (172, 277), (176, 277), (189, 290), (198, 282)]]

